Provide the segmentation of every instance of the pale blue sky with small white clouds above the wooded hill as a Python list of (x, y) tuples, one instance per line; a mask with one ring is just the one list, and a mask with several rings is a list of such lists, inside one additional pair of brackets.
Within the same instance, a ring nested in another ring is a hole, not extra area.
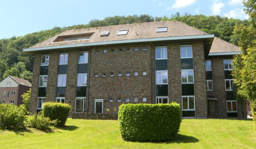
[(242, 0), (3, 0), (0, 39), (115, 15), (171, 16), (180, 12), (244, 20), (248, 15), (243, 8)]

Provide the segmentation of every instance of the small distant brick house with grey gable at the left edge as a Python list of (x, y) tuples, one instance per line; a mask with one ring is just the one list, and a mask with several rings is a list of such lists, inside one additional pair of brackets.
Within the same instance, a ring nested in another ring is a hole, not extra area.
[(7, 76), (0, 82), (0, 104), (23, 104), (21, 95), (30, 88), (31, 83), (27, 80)]

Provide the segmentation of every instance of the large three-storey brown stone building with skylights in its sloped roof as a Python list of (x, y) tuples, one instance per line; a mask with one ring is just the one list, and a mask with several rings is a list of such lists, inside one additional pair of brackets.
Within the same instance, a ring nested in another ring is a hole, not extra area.
[(35, 58), (31, 112), (46, 101), (72, 113), (176, 101), (184, 118), (246, 113), (231, 87), (239, 48), (178, 21), (69, 30), (24, 51)]

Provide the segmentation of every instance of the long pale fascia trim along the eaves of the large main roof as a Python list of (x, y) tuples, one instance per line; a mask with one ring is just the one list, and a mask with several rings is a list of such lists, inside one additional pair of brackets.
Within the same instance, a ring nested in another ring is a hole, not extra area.
[(200, 38), (214, 38), (214, 35), (171, 36), (171, 37), (158, 37), (158, 38), (142, 38), (142, 39), (116, 40), (116, 41), (104, 41), (104, 42), (91, 42), (91, 43), (84, 43), (84, 44), (36, 47), (36, 48), (23, 49), (23, 51), (29, 52), (29, 51), (48, 50), (48, 49), (70, 48), (70, 47), (85, 47), (85, 46), (92, 46), (92, 45), (124, 44), (124, 43), (133, 43), (133, 42), (153, 42), (153, 41), (200, 39)]

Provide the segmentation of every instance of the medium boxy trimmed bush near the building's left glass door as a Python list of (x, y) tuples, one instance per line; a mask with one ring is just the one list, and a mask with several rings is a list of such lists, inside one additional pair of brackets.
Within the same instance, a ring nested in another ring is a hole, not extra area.
[(64, 126), (71, 106), (69, 104), (63, 104), (59, 102), (46, 102), (43, 108), (43, 114), (45, 117), (49, 117), (50, 120), (57, 120), (57, 126)]

